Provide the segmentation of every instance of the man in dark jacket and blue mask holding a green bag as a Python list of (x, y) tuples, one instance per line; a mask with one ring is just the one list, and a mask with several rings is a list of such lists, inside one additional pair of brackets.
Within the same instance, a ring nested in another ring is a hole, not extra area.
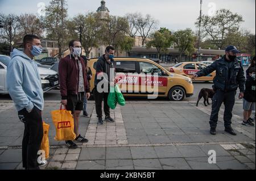
[(104, 100), (105, 121), (114, 122), (110, 117), (110, 108), (108, 106), (110, 86), (114, 86), (114, 53), (115, 50), (113, 47), (107, 47), (105, 54), (98, 59), (96, 65), (95, 89), (93, 94), (96, 103), (98, 124), (104, 124), (102, 120), (102, 100)]

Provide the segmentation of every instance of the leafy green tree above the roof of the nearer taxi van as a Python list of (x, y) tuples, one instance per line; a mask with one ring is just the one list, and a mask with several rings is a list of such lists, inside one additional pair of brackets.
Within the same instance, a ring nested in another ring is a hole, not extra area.
[(155, 47), (158, 58), (160, 58), (160, 53), (166, 52), (167, 48), (169, 48), (172, 43), (171, 32), (166, 28), (161, 28), (159, 31), (152, 33), (150, 39), (151, 40), (146, 43), (146, 47), (147, 49)]

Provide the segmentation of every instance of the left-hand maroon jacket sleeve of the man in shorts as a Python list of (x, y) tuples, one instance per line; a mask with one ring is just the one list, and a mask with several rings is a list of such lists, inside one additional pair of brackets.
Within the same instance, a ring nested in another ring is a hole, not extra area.
[(67, 90), (67, 62), (63, 59), (59, 62), (59, 81), (60, 81), (60, 94), (61, 99), (66, 100), (68, 98)]

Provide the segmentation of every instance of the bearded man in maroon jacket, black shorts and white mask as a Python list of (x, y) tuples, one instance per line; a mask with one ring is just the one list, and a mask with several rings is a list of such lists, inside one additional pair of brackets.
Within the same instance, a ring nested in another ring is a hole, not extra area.
[[(79, 134), (79, 116), (83, 110), (84, 95), (90, 97), (90, 87), (87, 81), (84, 60), (81, 55), (81, 43), (78, 40), (69, 42), (71, 53), (62, 58), (59, 63), (59, 79), (61, 104), (72, 112), (74, 118), (75, 141), (88, 142)], [(85, 93), (86, 92), (86, 93)], [(67, 140), (69, 149), (76, 149), (77, 145), (72, 140)]]

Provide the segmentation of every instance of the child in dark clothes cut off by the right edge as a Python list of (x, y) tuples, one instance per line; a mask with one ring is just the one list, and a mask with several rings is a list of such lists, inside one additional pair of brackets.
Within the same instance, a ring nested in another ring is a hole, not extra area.
[(255, 111), (255, 68), (250, 68), (243, 96), (243, 125), (254, 126), (251, 112)]

